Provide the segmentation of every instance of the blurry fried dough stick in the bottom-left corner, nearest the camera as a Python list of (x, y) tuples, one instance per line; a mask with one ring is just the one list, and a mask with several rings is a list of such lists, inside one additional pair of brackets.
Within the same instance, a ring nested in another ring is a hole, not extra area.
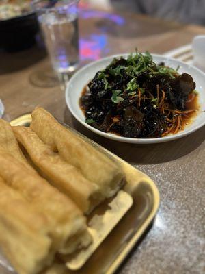
[(0, 246), (19, 274), (36, 274), (51, 264), (48, 221), (0, 177)]

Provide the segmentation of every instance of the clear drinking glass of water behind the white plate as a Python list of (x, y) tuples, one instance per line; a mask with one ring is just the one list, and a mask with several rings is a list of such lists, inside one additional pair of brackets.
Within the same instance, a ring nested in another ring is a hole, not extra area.
[(34, 0), (47, 51), (57, 73), (72, 73), (79, 64), (79, 0)]

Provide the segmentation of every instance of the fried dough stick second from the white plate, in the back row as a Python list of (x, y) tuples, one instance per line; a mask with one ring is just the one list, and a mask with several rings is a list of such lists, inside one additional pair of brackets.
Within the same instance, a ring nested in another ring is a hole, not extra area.
[(62, 159), (59, 153), (53, 152), (31, 128), (18, 126), (12, 129), (16, 139), (25, 147), (42, 175), (73, 199), (83, 212), (91, 212), (102, 201), (98, 186), (85, 179), (81, 172)]

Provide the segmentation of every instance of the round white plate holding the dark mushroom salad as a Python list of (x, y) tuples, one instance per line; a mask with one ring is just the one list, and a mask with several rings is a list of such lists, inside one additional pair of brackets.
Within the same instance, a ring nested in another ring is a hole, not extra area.
[[(68, 82), (68, 86), (66, 88), (66, 104), (68, 105), (68, 108), (70, 112), (72, 113), (72, 115), (82, 125), (92, 130), (92, 132), (95, 132), (96, 134), (99, 134), (106, 138), (117, 140), (120, 142), (130, 142), (135, 144), (151, 144), (156, 142), (167, 142), (170, 140), (175, 140), (183, 136), (186, 136), (188, 134), (191, 134), (191, 132), (195, 132), (195, 130), (205, 125), (205, 112), (204, 112), (205, 110), (205, 74), (199, 69), (195, 68), (194, 66), (186, 64), (184, 62), (180, 62), (172, 58), (167, 58), (166, 56), (163, 56), (163, 55), (156, 55), (156, 54), (152, 54), (154, 62), (156, 63), (165, 62), (167, 66), (171, 66), (173, 68), (176, 68), (179, 65), (180, 66), (179, 73), (189, 73), (193, 77), (194, 81), (196, 82), (196, 90), (197, 92), (199, 92), (199, 95), (200, 95), (201, 110), (197, 114), (197, 116), (195, 117), (191, 125), (187, 125), (187, 127), (185, 127), (184, 130), (178, 132), (177, 134), (172, 134), (172, 135), (170, 134), (168, 136), (164, 136), (161, 138), (126, 138), (126, 137), (117, 136), (111, 133), (100, 132), (100, 130), (95, 129), (94, 127), (85, 123), (85, 116), (83, 112), (81, 111), (81, 108), (79, 107), (79, 98), (81, 96), (83, 87), (94, 77), (97, 71), (100, 71), (101, 69), (105, 69), (105, 66), (107, 66), (111, 62), (111, 60), (113, 60), (114, 57), (120, 57), (120, 56), (122, 55), (113, 55), (113, 56), (98, 60), (96, 62), (92, 62), (91, 64), (88, 64), (87, 66), (83, 66), (82, 69), (77, 71), (77, 73), (75, 73), (72, 76), (72, 78), (70, 79), (70, 82)], [(126, 58), (128, 54), (124, 54), (123, 56)]]

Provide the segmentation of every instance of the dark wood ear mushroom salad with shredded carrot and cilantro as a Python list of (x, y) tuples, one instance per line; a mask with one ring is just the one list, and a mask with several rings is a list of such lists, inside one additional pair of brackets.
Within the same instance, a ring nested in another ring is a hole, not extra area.
[(85, 122), (129, 138), (176, 134), (198, 110), (195, 82), (178, 69), (155, 64), (148, 52), (114, 58), (83, 90)]

